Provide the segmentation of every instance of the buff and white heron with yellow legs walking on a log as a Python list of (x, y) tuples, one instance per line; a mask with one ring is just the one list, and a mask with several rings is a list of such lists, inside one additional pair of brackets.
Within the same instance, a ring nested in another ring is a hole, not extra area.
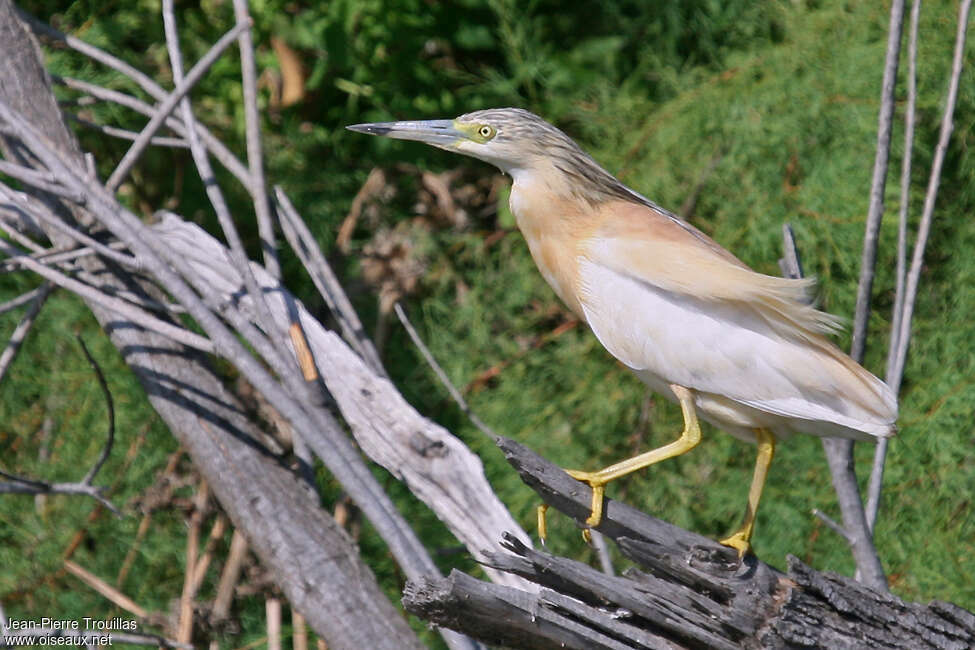
[(588, 526), (601, 521), (607, 483), (696, 447), (700, 417), (758, 445), (743, 522), (721, 540), (743, 556), (777, 440), (894, 434), (896, 397), (826, 338), (838, 320), (811, 305), (811, 280), (751, 270), (540, 117), (500, 108), (348, 128), (425, 142), (510, 175), (511, 211), (542, 276), (610, 354), (680, 405), (675, 441), (597, 472), (569, 472), (592, 487)]

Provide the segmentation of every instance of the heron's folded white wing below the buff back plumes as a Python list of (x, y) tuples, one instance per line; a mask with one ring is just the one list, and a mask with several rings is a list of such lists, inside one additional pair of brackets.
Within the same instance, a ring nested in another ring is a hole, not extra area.
[(586, 257), (579, 276), (590, 327), (634, 370), (789, 420), (893, 432), (896, 402), (886, 385), (851, 373), (805, 337), (782, 336), (760, 309), (662, 289)]

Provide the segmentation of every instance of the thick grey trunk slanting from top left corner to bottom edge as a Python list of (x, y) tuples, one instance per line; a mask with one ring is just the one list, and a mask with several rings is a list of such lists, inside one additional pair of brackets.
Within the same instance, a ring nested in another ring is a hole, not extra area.
[[(21, 114), (79, 169), (84, 159), (61, 113), (41, 64), (36, 42), (10, 0), (0, 0), (0, 101)], [(4, 156), (30, 164), (0, 138)], [(63, 214), (66, 208), (43, 197)], [(75, 211), (77, 221), (87, 221)], [(57, 231), (56, 243), (70, 243)], [(87, 271), (112, 287), (148, 295), (129, 274), (88, 258)], [(296, 609), (336, 648), (421, 647), (403, 617), (380, 591), (347, 535), (309, 496), (293, 473), (260, 444), (245, 410), (191, 350), (90, 305), (170, 430), (206, 476), (234, 524)]]

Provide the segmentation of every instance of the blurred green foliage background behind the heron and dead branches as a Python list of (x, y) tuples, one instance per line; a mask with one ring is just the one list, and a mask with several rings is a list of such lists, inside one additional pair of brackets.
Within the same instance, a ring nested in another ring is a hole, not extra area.
[[(490, 106), (522, 106), (576, 138), (597, 160), (641, 193), (676, 209), (698, 189), (693, 222), (757, 270), (777, 273), (780, 227), (793, 224), (808, 273), (822, 283), (825, 306), (849, 316), (855, 300), (860, 245), (873, 164), (876, 114), (888, 7), (875, 2), (793, 3), (732, 0), (690, 2), (536, 0), (335, 0), (328, 3), (258, 0), (258, 64), (278, 62), (271, 37), (296, 50), (307, 73), (307, 95), (285, 109), (265, 111), (268, 177), (281, 183), (334, 258), (361, 313), (377, 317), (376, 298), (358, 263), (374, 235), (360, 225), (353, 252), (339, 255), (335, 237), (352, 197), (374, 166), (409, 162), (440, 171), (465, 167), (495, 172), (474, 161), (409, 143), (367, 138), (346, 124), (447, 117)], [(171, 83), (155, 0), (26, 2), (32, 13), (101, 46), (164, 84)], [(232, 23), (226, 0), (178, 3), (184, 56), (195, 60)], [(926, 2), (922, 12), (918, 132), (912, 175), (911, 224), (916, 226), (943, 108), (954, 38), (954, 2)], [(908, 600), (939, 598), (975, 608), (975, 63), (973, 46), (961, 84), (955, 132), (942, 177), (936, 221), (926, 254), (914, 338), (901, 391), (901, 433), (891, 445), (877, 546), (892, 589)], [(115, 73), (71, 53), (49, 50), (52, 71), (139, 94)], [(904, 71), (901, 66), (901, 84)], [(198, 114), (242, 151), (243, 115), (236, 54), (226, 56), (194, 92)], [(898, 92), (902, 117), (904, 91)], [(100, 120), (138, 129), (143, 121), (118, 108), (90, 109)], [(79, 131), (103, 171), (125, 143)], [(881, 231), (874, 314), (866, 365), (883, 375), (893, 303), (896, 179), (902, 127), (894, 156)], [(709, 171), (709, 169), (711, 171)], [(188, 155), (156, 151), (133, 174), (125, 197), (148, 214), (167, 207), (202, 223), (213, 218)], [(382, 206), (383, 225), (409, 222), (416, 188)], [(233, 187), (240, 223), (250, 229), (249, 206)], [(525, 441), (564, 466), (598, 468), (639, 449), (669, 441), (679, 413), (662, 400), (644, 407), (645, 390), (588, 332), (571, 330), (535, 349), (566, 317), (535, 271), (503, 196), (497, 211), (474, 216), (464, 228), (413, 231), (427, 272), (407, 302), (435, 356), (458, 386), (495, 364), (512, 360), (486, 387), (467, 395), (499, 432)], [(495, 235), (488, 240), (489, 235)], [(490, 244), (488, 243), (490, 241)], [(252, 250), (256, 253), (256, 246)], [(320, 308), (297, 263), (285, 257), (288, 283)], [(36, 284), (0, 276), (0, 300)], [(458, 287), (464, 287), (459, 290)], [(0, 316), (3, 332), (19, 313)], [(82, 334), (105, 365), (116, 397), (119, 450), (102, 481), (118, 481), (114, 500), (125, 504), (153, 480), (175, 448), (121, 362), (80, 301), (56, 295), (0, 386), (0, 458), (9, 471), (77, 479), (97, 455), (104, 405), (74, 343)], [(847, 337), (841, 344), (848, 345)], [(533, 527), (534, 494), (500, 454), (465, 420), (403, 335), (393, 328), (389, 370), (407, 398), (476, 449), (501, 498), (522, 524)], [(648, 417), (641, 419), (641, 412)], [(37, 461), (38, 432), (53, 418), (49, 463)], [(123, 451), (145, 441), (120, 474)], [(614, 484), (614, 498), (669, 521), (718, 536), (738, 521), (753, 464), (753, 449), (714, 429), (693, 453)], [(863, 471), (873, 447), (859, 445)], [(380, 470), (377, 474), (383, 475)], [(455, 544), (408, 492), (385, 477), (403, 511), (431, 548)], [(321, 475), (326, 505), (339, 487)], [(0, 602), (12, 616), (64, 618), (116, 614), (73, 578), (58, 572), (67, 541), (86, 525), (93, 505), (53, 497), (45, 508), (18, 496), (0, 499)], [(759, 512), (755, 548), (782, 566), (792, 553), (819, 569), (852, 573), (844, 543), (810, 511), (838, 517), (820, 443), (795, 438), (780, 447)], [(551, 517), (552, 546), (592, 560), (578, 532)], [(87, 524), (81, 561), (114, 576), (139, 517), (102, 516)], [(123, 589), (143, 606), (166, 609), (182, 584), (182, 515), (157, 516)], [(402, 586), (368, 526), (361, 545), (391, 597)], [(469, 560), (440, 556), (444, 569), (476, 571)], [(205, 584), (212, 596), (215, 577)], [(243, 630), (223, 642), (259, 639), (260, 602), (245, 602)], [(416, 624), (431, 643), (434, 635)]]

